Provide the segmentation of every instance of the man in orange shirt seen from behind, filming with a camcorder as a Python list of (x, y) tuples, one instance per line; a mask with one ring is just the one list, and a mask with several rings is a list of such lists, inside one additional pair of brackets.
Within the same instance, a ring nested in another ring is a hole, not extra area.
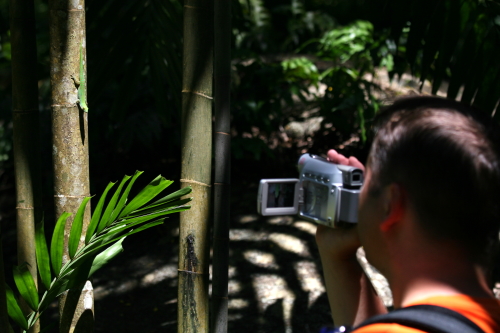
[[(363, 246), (388, 279), (396, 309), (439, 305), (500, 332), (500, 303), (485, 269), (500, 224), (499, 133), (489, 123), (435, 97), (402, 99), (381, 113), (357, 227), (316, 233), (335, 325), (386, 312), (356, 260)], [(328, 158), (364, 169), (334, 150)], [(422, 331), (390, 323), (354, 332)]]

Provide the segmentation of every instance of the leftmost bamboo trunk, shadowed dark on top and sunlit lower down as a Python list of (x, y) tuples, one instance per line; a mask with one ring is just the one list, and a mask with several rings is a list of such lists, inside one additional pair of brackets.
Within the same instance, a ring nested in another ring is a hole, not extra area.
[[(37, 284), (35, 223), (42, 218), (35, 11), (32, 0), (10, 3), (12, 109), (16, 174), (17, 257)], [(24, 302), (22, 302), (24, 303)], [(32, 312), (23, 304), (26, 314)], [(40, 331), (37, 322), (29, 332)]]

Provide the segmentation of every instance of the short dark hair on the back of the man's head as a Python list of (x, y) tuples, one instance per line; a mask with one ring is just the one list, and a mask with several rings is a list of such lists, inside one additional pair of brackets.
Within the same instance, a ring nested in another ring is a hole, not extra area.
[(431, 237), (487, 260), (498, 242), (498, 127), (478, 110), (438, 97), (397, 100), (375, 121), (369, 193), (401, 184)]

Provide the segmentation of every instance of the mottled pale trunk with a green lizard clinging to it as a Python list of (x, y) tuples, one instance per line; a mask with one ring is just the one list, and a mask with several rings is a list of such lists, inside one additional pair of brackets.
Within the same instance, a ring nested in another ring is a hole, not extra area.
[[(89, 196), (88, 113), (78, 105), (75, 79), (79, 79), (80, 55), (86, 72), (84, 0), (50, 0), (50, 81), (52, 85), (52, 158), (56, 216), (74, 214), (83, 198)], [(80, 82), (82, 83), (82, 82)], [(67, 244), (70, 217), (64, 231), (63, 263), (69, 260)], [(88, 223), (87, 205), (82, 243)], [(60, 333), (93, 331), (93, 292), (87, 281), (83, 291), (62, 295), (59, 304)]]

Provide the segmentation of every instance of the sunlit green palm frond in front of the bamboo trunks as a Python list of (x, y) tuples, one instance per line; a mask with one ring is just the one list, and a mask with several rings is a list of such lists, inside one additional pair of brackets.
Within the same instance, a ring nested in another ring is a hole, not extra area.
[(130, 189), (141, 174), (142, 171), (136, 171), (132, 177), (125, 176), (105, 206), (108, 192), (115, 183), (108, 184), (92, 214), (85, 234), (85, 244), (81, 246), (83, 215), (91, 197), (84, 198), (71, 227), (68, 241), (70, 260), (64, 265), (62, 264), (64, 227), (71, 214), (65, 212), (57, 220), (50, 243), (50, 253), (45, 239), (43, 221), (36, 225), (37, 266), (47, 291), (40, 299), (35, 282), (26, 265), (14, 268), (14, 281), (19, 294), (33, 310), (25, 316), (14, 292), (6, 286), (8, 314), (24, 332), (36, 323), (41, 313), (56, 297), (69, 289), (82, 289), (85, 281), (92, 274), (122, 252), (125, 237), (162, 224), (165, 215), (182, 212), (191, 207), (186, 204), (192, 198), (182, 198), (191, 192), (191, 187), (182, 188), (150, 203), (173, 183), (162, 176), (153, 179), (127, 203)]

